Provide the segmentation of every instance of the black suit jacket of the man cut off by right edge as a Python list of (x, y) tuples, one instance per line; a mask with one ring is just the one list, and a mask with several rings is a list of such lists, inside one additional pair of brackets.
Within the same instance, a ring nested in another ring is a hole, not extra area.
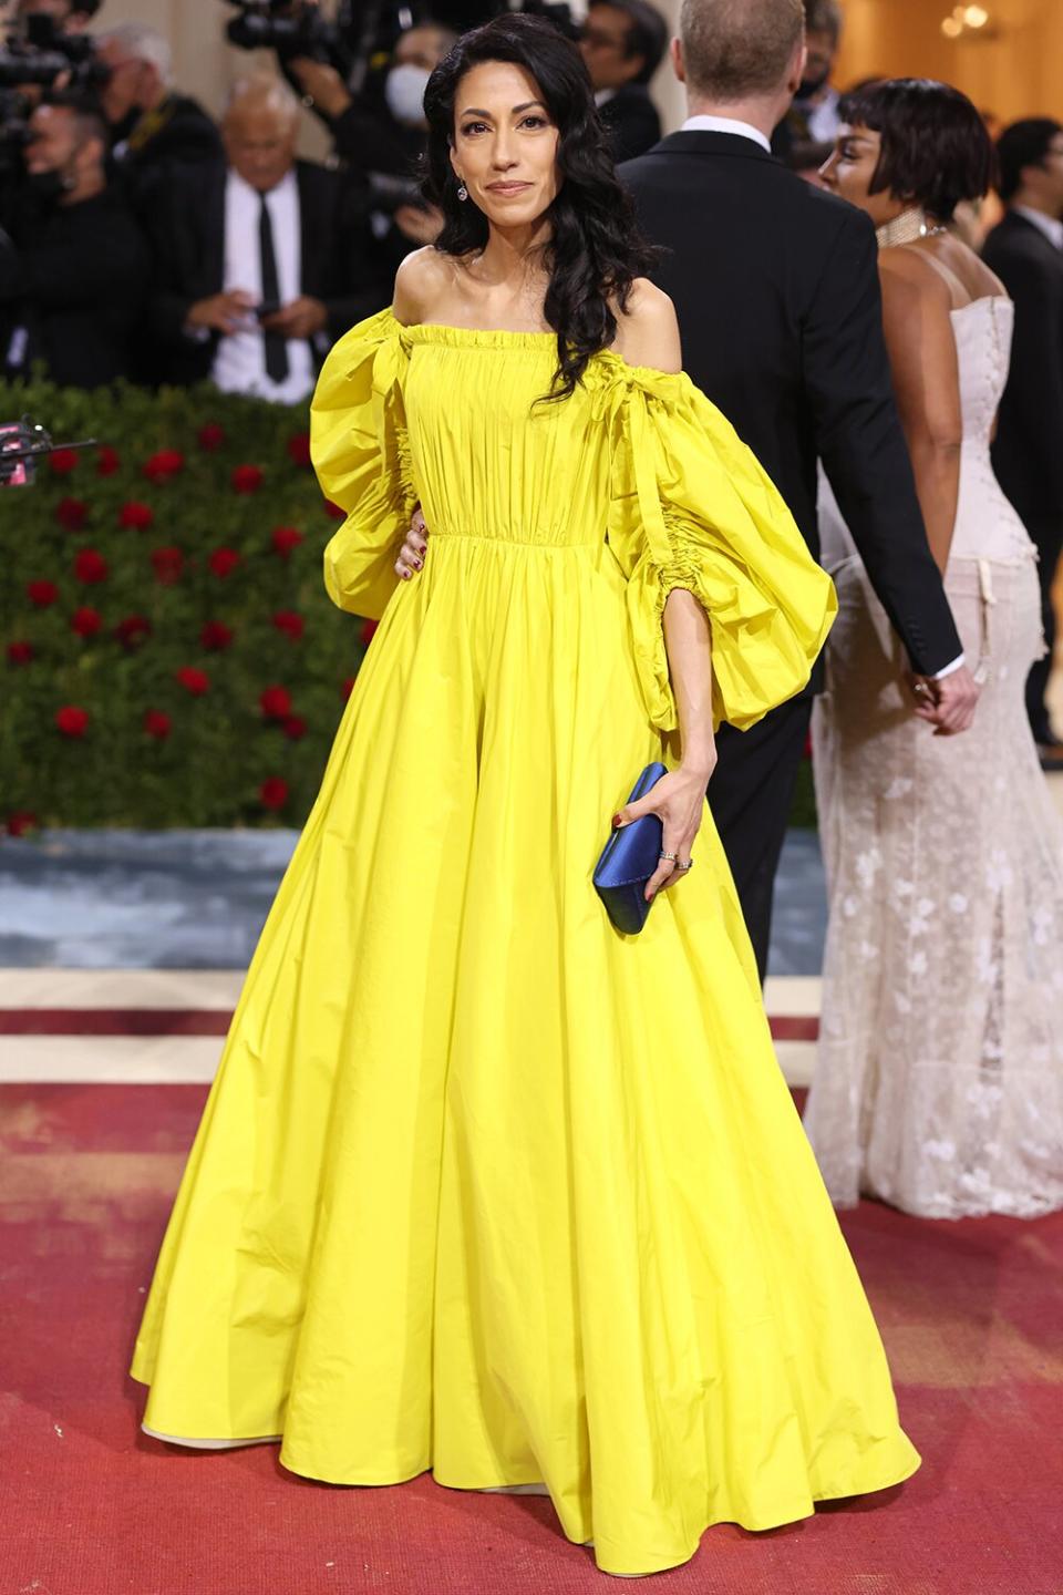
[(993, 466), (1025, 520), (1063, 520), (1063, 250), (1009, 211), (982, 254), (1015, 300)]

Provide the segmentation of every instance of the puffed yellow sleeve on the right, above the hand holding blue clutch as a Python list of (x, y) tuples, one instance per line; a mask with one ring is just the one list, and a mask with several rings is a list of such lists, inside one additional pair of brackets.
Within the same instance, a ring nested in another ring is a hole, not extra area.
[(645, 707), (676, 729), (665, 601), (712, 630), (712, 713), (746, 729), (808, 683), (837, 597), (794, 517), (720, 412), (684, 376), (625, 367), (614, 399), (609, 544), (628, 582)]

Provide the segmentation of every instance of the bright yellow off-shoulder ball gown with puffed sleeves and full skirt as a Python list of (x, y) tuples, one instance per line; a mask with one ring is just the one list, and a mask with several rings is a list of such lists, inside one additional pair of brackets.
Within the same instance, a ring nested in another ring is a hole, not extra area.
[[(706, 812), (618, 935), (591, 887), (661, 756), (673, 587), (716, 708), (802, 687), (834, 612), (685, 376), (543, 333), (402, 327), (322, 372), (338, 605), (381, 616), (233, 1019), (143, 1316), (145, 1424), (282, 1436), (384, 1485), (545, 1482), (609, 1573), (918, 1456), (779, 1073)], [(395, 545), (421, 502), (424, 571)]]

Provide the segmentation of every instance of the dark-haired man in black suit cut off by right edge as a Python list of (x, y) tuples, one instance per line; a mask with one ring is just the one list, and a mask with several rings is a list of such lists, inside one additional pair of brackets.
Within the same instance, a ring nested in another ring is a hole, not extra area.
[(1063, 126), (1017, 121), (999, 139), (1007, 215), (985, 241), (987, 266), (1015, 301), (1012, 365), (993, 443), (993, 467), (1041, 557), (1041, 609), (1049, 652), (1030, 671), (1026, 711), (1045, 769), (1063, 767), (1063, 743), (1044, 702), (1055, 643), (1052, 577), (1063, 545)]

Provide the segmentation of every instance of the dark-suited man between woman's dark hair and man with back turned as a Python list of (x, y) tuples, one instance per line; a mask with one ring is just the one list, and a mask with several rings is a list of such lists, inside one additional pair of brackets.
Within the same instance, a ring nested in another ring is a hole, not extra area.
[(591, 0), (580, 51), (614, 160), (644, 155), (661, 136), (649, 83), (668, 48), (668, 29), (649, 0)]

